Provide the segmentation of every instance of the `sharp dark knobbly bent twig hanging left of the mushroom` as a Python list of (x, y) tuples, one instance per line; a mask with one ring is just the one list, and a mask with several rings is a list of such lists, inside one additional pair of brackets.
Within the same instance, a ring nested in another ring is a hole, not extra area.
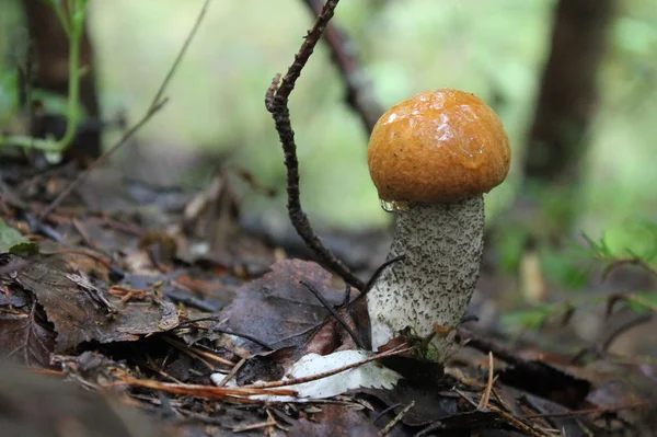
[(362, 290), (365, 284), (335, 255), (324, 246), (320, 238), (314, 233), (308, 216), (301, 209), (301, 200), (299, 193), (299, 160), (297, 159), (297, 145), (295, 142), (295, 131), (290, 122), (290, 111), (288, 101), (290, 93), (295, 89), (295, 84), (301, 70), (312, 55), (318, 41), (322, 36), (322, 32), (326, 27), (328, 21), (333, 16), (333, 12), (339, 0), (327, 0), (318, 16), (314, 26), (303, 41), (299, 53), (295, 56), (295, 61), (289, 67), (283, 79), (280, 74), (276, 74), (272, 81), (272, 87), (267, 90), (265, 96), (265, 106), (272, 113), (280, 145), (285, 156), (285, 166), (287, 169), (287, 195), (288, 195), (288, 214), (292, 226), (297, 233), (303, 239), (306, 244), (316, 253), (328, 268), (339, 275), (347, 284)]

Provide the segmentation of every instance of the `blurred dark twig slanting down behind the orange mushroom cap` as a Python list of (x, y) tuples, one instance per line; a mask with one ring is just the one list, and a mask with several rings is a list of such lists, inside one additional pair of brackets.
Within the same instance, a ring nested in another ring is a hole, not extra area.
[[(303, 0), (303, 2), (315, 13), (315, 16), (320, 14), (321, 1)], [(358, 114), (366, 130), (371, 133), (383, 110), (374, 97), (369, 78), (358, 65), (354, 42), (333, 23), (326, 26), (324, 41), (331, 49), (333, 62), (347, 85), (347, 104)]]

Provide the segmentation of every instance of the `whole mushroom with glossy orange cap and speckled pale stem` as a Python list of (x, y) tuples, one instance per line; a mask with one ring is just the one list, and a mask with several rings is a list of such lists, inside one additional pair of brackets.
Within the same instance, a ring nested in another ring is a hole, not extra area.
[(388, 258), (403, 260), (367, 294), (374, 350), (405, 333), (426, 340), (423, 358), (449, 356), (479, 279), (483, 194), (504, 181), (510, 156), (497, 115), (466, 92), (423, 92), (377, 122), (368, 164), (395, 214)]

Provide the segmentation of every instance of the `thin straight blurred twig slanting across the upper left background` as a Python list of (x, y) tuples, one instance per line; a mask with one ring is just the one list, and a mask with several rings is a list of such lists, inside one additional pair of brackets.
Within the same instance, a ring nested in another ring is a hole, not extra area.
[(166, 76), (164, 77), (164, 80), (160, 84), (160, 88), (158, 89), (158, 92), (155, 93), (155, 95), (154, 95), (154, 97), (153, 97), (150, 106), (148, 107), (148, 111), (146, 112), (146, 114), (143, 114), (143, 116), (141, 117), (141, 119), (135, 126), (132, 126), (128, 131), (126, 131), (114, 146), (112, 146), (103, 154), (101, 154), (82, 173), (80, 173), (78, 175), (78, 177), (76, 177), (70, 184), (68, 184), (66, 186), (66, 188), (64, 188), (64, 191), (61, 193), (59, 193), (59, 195), (55, 198), (55, 200), (53, 200), (50, 203), (50, 205), (48, 205), (48, 207), (39, 215), (39, 219), (42, 221), (45, 220), (48, 217), (48, 215), (50, 212), (53, 212), (53, 210), (55, 208), (57, 208), (57, 206), (59, 206), (59, 204), (78, 185), (80, 185), (80, 183), (82, 181), (84, 181), (87, 179), (87, 176), (89, 176), (89, 174), (93, 170), (95, 170), (96, 168), (101, 166), (107, 160), (107, 158), (110, 158), (123, 145), (125, 145), (127, 142), (127, 140), (130, 139), (141, 128), (141, 126), (143, 126), (153, 115), (155, 115), (155, 113), (158, 111), (160, 111), (162, 108), (162, 106), (164, 106), (166, 104), (166, 102), (169, 101), (169, 99), (168, 97), (162, 97), (162, 95), (164, 94), (164, 91), (166, 90), (166, 85), (169, 85), (169, 82), (171, 81), (171, 78), (173, 77), (173, 74), (177, 70), (177, 67), (181, 64), (181, 60), (183, 59), (183, 56), (187, 51), (187, 48), (189, 47), (189, 44), (192, 43), (192, 39), (194, 38), (194, 35), (196, 35), (196, 32), (198, 31), (198, 27), (199, 27), (199, 25), (200, 25), (200, 23), (203, 21), (203, 18), (206, 14), (206, 11), (208, 9), (208, 4), (209, 3), (210, 3), (210, 0), (205, 0), (205, 2), (203, 3), (203, 8), (200, 9), (200, 12), (198, 13), (198, 16), (196, 18), (196, 22), (192, 26), (192, 30), (189, 31), (189, 34), (187, 35), (187, 38), (185, 39), (185, 43), (183, 44), (183, 46), (182, 46), (181, 50), (178, 51), (178, 55), (176, 56), (173, 65), (171, 66), (171, 68), (169, 69)]

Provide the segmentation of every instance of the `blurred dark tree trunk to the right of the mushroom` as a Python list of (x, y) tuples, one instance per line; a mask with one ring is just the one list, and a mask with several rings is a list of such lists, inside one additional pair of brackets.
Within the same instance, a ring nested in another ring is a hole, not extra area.
[(525, 161), (530, 183), (570, 184), (578, 179), (614, 5), (615, 0), (558, 1)]

